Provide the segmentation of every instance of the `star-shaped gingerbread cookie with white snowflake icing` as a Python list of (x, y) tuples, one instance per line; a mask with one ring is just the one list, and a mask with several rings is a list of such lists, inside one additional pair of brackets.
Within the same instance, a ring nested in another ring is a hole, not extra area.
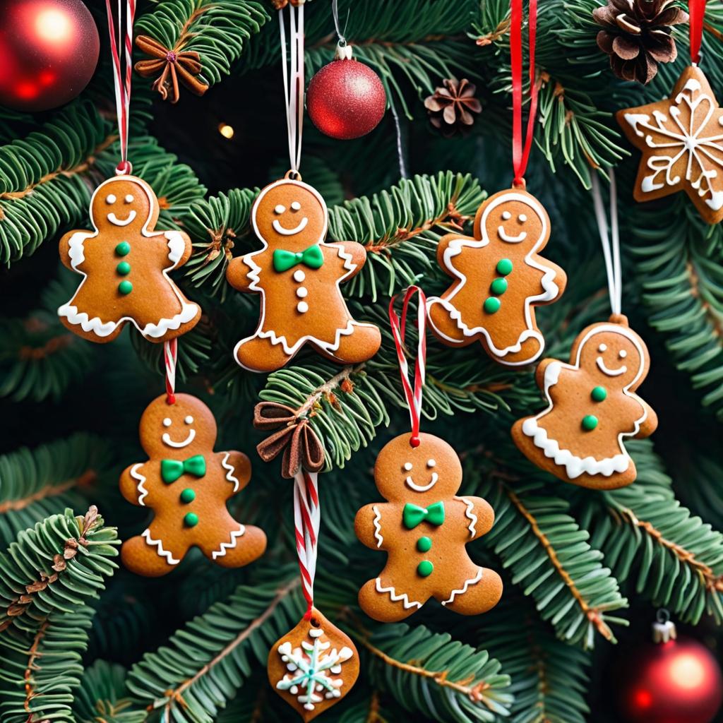
[(685, 191), (707, 223), (723, 221), (723, 108), (700, 68), (686, 68), (669, 98), (616, 117), (643, 153), (637, 201)]

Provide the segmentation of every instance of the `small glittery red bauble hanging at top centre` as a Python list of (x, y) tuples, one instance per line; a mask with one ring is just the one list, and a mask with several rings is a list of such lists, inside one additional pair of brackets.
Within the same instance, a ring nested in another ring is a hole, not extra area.
[(322, 132), (340, 140), (366, 135), (387, 106), (379, 76), (354, 59), (333, 60), (309, 82), (307, 111)]

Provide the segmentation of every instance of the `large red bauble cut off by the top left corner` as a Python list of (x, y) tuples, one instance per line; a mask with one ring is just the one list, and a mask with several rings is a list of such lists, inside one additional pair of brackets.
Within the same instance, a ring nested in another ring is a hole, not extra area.
[(47, 111), (93, 77), (100, 40), (80, 0), (7, 0), (0, 13), (0, 105)]

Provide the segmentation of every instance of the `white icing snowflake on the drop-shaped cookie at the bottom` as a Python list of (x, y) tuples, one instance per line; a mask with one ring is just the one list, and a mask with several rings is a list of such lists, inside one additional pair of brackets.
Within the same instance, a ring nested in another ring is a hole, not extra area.
[(301, 641), (301, 647), (294, 649), (288, 641), (278, 646), (289, 672), (276, 683), (276, 688), (288, 690), (307, 711), (313, 711), (324, 698), (341, 698), (341, 686), (344, 684), (343, 679), (338, 677), (341, 666), (354, 656), (347, 646), (340, 651), (335, 648), (329, 650), (331, 643), (320, 639), (323, 634), (321, 628), (312, 628), (309, 630), (312, 643)]

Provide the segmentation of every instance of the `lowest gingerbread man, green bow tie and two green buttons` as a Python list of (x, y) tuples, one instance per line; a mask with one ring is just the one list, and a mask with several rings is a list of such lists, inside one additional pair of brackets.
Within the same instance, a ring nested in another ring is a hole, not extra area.
[(492, 528), (495, 513), (481, 497), (458, 497), (462, 466), (455, 450), (434, 435), (395, 437), (374, 468), (387, 502), (356, 513), (354, 529), (367, 547), (384, 550), (387, 564), (359, 591), (364, 612), (382, 623), (403, 620), (430, 597), (463, 615), (495, 607), (502, 580), (481, 568), (465, 545)]

